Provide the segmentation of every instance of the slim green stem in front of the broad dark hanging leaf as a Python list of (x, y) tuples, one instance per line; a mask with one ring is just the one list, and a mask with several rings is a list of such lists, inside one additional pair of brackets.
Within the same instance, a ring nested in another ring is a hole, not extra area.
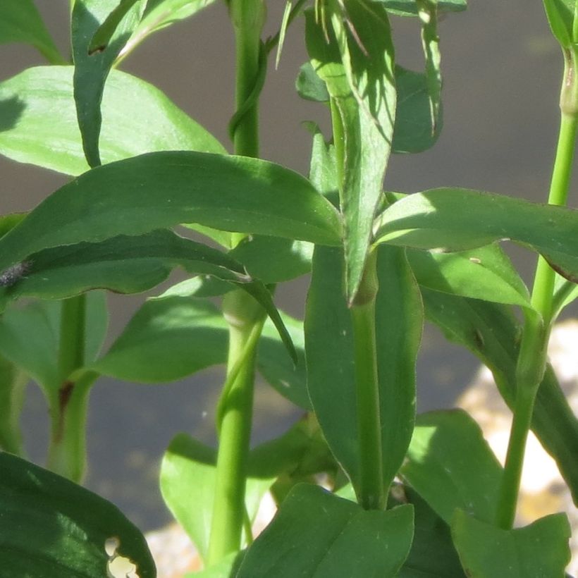
[(375, 336), (376, 255), (374, 251), (367, 258), (362, 282), (351, 307), (359, 443), (357, 500), (366, 510), (383, 510), (386, 505)]

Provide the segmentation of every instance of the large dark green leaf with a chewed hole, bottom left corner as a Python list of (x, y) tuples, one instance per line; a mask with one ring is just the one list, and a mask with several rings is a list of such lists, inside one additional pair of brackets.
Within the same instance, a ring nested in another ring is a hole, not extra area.
[(154, 578), (154, 562), (138, 529), (116, 508), (67, 479), (0, 453), (0, 558), (6, 576), (102, 578), (105, 543)]

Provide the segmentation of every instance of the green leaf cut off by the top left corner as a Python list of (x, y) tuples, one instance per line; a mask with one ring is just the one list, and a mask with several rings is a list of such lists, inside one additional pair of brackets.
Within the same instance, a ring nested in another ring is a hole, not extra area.
[(0, 3), (0, 44), (9, 42), (32, 44), (47, 61), (64, 62), (32, 0), (2, 0)]

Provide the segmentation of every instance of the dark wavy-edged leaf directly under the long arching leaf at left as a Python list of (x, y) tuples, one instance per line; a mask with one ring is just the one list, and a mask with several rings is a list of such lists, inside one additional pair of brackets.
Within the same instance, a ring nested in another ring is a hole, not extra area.
[(23, 277), (0, 288), (0, 307), (20, 297), (61, 299), (94, 288), (140, 293), (164, 281), (176, 266), (235, 285), (252, 282), (226, 254), (166, 229), (46, 249), (30, 255), (27, 264)]

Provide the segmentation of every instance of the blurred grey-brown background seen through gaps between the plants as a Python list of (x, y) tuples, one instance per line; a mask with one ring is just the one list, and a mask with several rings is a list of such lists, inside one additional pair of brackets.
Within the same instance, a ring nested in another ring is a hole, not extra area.
[[(62, 54), (69, 54), (68, 0), (36, 4)], [(265, 35), (278, 29), (284, 4), (269, 0)], [(392, 18), (392, 25), (398, 63), (422, 70), (419, 24)], [(443, 19), (439, 32), (444, 76), (441, 137), (429, 152), (393, 156), (386, 189), (415, 192), (455, 185), (545, 201), (558, 133), (562, 57), (541, 2), (470, 0), (467, 11)], [(44, 64), (42, 56), (25, 45), (0, 46), (0, 55), (0, 80)], [(300, 18), (288, 31), (278, 70), (270, 64), (261, 99), (262, 156), (301, 173), (308, 171), (311, 145), (302, 121), (317, 121), (325, 130), (329, 125), (323, 106), (302, 101), (295, 93), (295, 78), (306, 59)], [(219, 1), (147, 39), (121, 68), (159, 87), (230, 149), (233, 63), (232, 30), (226, 6)], [(0, 174), (0, 214), (32, 209), (68, 180), (2, 157)], [(524, 278), (531, 278), (534, 257), (520, 249), (510, 251)], [(307, 283), (302, 278), (283, 285), (278, 305), (302, 316)], [(160, 290), (152, 292), (157, 293)], [(143, 298), (109, 297), (108, 343)], [(478, 367), (472, 355), (426, 327), (418, 362), (419, 411), (451, 406)], [(168, 522), (171, 517), (158, 490), (159, 461), (179, 431), (214, 443), (214, 405), (221, 379), (221, 371), (213, 369), (158, 386), (97, 381), (90, 401), (87, 486), (116, 503), (144, 530)], [(299, 415), (263, 384), (256, 406), (255, 443), (283, 432)], [(27, 391), (24, 433), (30, 456), (42, 462), (47, 412), (35, 386)]]

